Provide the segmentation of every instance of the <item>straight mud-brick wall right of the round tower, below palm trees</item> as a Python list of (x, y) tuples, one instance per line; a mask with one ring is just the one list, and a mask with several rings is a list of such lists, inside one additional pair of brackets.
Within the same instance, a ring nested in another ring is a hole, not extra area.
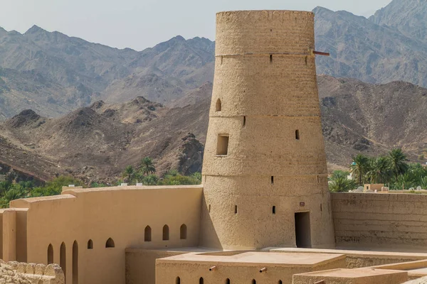
[(427, 195), (332, 193), (337, 246), (427, 246)]

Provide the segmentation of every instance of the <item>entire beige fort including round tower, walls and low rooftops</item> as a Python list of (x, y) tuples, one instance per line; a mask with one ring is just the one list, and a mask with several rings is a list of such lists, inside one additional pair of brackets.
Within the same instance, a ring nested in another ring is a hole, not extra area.
[(203, 185), (65, 187), (11, 202), (0, 211), (0, 256), (25, 278), (11, 283), (397, 284), (427, 275), (426, 195), (328, 191), (313, 13), (216, 17)]

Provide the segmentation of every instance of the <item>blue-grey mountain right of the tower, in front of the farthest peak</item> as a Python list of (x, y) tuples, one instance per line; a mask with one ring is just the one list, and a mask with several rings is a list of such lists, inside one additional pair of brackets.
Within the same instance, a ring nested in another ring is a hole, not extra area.
[(420, 38), (346, 11), (317, 7), (314, 12), (316, 48), (331, 54), (317, 58), (318, 74), (371, 83), (403, 80), (427, 87), (427, 45)]

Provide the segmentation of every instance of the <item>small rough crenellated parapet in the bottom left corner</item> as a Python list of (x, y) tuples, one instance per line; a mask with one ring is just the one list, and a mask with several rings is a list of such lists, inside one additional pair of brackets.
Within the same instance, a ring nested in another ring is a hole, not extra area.
[[(4, 282), (2, 282), (4, 281)], [(19, 263), (0, 261), (0, 283), (65, 284), (64, 273), (58, 264)]]

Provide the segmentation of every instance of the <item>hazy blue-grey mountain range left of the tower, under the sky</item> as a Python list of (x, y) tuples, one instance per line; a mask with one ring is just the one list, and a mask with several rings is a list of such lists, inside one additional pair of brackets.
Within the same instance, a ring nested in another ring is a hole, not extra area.
[(177, 36), (141, 52), (33, 26), (0, 30), (0, 119), (22, 109), (60, 116), (99, 99), (169, 104), (213, 77), (214, 43)]

